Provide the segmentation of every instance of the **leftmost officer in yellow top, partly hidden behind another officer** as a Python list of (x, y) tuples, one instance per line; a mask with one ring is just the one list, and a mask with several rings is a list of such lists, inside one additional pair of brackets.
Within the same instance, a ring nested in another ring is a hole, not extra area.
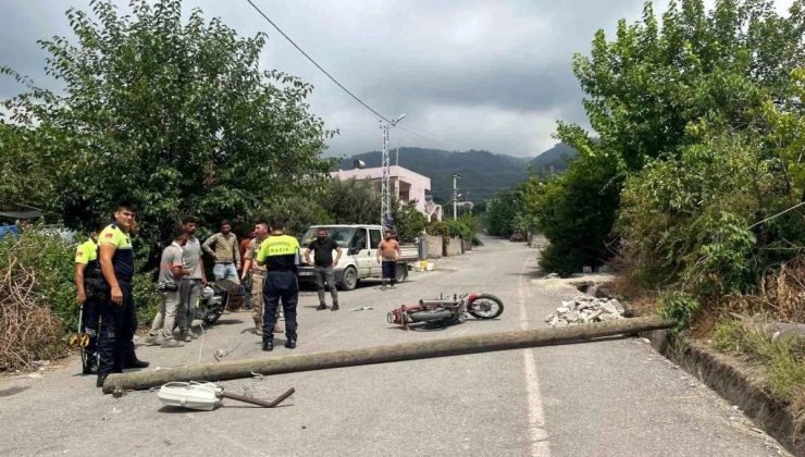
[(89, 344), (83, 348), (83, 372), (92, 374), (96, 365), (98, 344), (98, 316), (101, 295), (100, 282), (103, 276), (98, 264), (98, 233), (106, 223), (96, 225), (90, 238), (78, 245), (75, 252), (75, 300), (82, 309), (82, 328), (79, 332), (89, 335)]

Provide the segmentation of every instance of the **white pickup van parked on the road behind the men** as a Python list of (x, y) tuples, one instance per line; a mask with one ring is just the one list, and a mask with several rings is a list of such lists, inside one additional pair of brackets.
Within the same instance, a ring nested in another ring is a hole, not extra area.
[[(382, 277), (381, 263), (377, 262), (377, 245), (383, 239), (383, 227), (380, 225), (313, 225), (300, 239), (302, 252), (315, 239), (315, 232), (325, 228), (327, 236), (338, 244), (342, 257), (333, 269), (338, 288), (351, 291), (359, 280)], [(416, 245), (400, 246), (401, 256), (397, 263), (397, 281), (408, 276), (408, 263), (419, 258)], [(333, 252), (333, 259), (336, 254)], [(312, 255), (311, 255), (311, 261)], [(302, 256), (299, 265), (299, 281), (314, 281), (313, 265), (307, 264)]]

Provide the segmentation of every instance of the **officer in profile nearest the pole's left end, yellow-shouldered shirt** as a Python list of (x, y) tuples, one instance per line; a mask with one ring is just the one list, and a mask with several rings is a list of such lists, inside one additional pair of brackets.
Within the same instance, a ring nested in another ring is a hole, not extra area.
[(135, 214), (133, 205), (119, 205), (114, 222), (98, 236), (103, 288), (109, 296), (100, 307), (98, 387), (103, 386), (110, 373), (122, 373), (124, 368), (148, 367), (148, 362), (137, 360), (132, 339), (137, 329), (132, 296), (134, 248), (129, 235)]

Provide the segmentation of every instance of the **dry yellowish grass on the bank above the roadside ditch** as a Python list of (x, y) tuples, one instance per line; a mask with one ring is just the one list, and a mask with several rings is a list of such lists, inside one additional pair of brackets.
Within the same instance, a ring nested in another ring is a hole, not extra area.
[(771, 394), (787, 403), (793, 413), (796, 440), (805, 428), (805, 338), (772, 342), (765, 331), (728, 319), (716, 324), (713, 346), (722, 353), (748, 356), (763, 366)]

